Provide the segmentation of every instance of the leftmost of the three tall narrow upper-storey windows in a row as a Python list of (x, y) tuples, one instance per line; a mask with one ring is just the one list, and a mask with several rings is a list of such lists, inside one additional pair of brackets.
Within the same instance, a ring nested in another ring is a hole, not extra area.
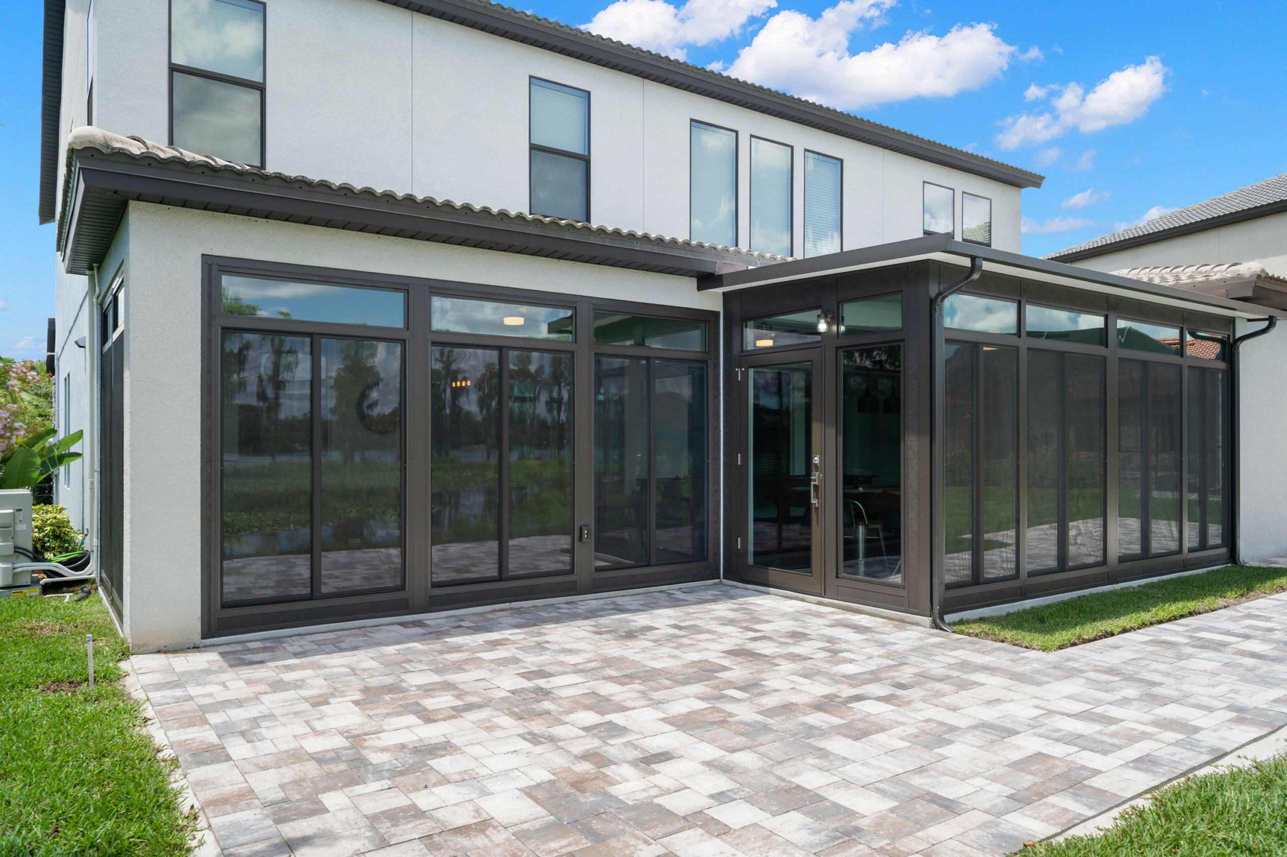
[(737, 246), (737, 133), (705, 122), (689, 131), (689, 238)]

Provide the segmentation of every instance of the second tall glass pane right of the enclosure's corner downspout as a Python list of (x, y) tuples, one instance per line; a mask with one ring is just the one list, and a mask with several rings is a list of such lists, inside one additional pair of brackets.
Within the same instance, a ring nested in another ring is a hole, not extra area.
[(983, 346), (983, 582), (1018, 574), (1018, 350)]

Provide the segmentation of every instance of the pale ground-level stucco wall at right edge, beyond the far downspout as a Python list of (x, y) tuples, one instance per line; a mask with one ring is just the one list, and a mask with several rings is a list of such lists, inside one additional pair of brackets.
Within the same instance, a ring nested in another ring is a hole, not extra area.
[[(1264, 327), (1238, 322), (1238, 335)], [(1243, 562), (1287, 556), (1287, 327), (1239, 346), (1239, 553)]]

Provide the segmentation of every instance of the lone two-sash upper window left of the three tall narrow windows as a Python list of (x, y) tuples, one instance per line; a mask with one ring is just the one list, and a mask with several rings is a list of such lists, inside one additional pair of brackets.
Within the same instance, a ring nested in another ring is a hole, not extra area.
[(589, 93), (532, 78), (532, 214), (589, 220)]

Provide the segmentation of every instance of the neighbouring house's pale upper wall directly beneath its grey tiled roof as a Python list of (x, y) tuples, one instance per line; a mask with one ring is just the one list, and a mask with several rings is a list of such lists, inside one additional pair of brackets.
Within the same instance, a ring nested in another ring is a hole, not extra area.
[(1149, 244), (1073, 263), (1093, 270), (1154, 265), (1260, 263), (1270, 274), (1287, 277), (1287, 212), (1205, 229)]

